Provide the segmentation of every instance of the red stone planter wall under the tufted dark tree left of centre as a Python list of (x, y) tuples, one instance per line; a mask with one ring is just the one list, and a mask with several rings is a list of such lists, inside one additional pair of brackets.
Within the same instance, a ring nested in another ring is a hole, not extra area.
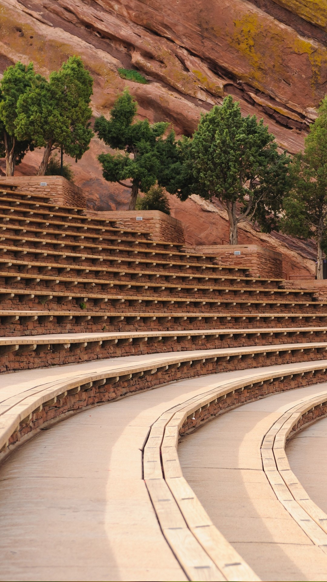
[(105, 212), (88, 210), (87, 215), (115, 220), (121, 228), (136, 230), (137, 232), (148, 232), (151, 234), (152, 240), (185, 244), (182, 222), (159, 210), (113, 210)]

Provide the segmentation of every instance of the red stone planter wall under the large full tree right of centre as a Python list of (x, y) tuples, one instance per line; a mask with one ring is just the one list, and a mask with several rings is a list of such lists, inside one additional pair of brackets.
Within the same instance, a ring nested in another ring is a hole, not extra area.
[(188, 249), (193, 253), (215, 255), (217, 262), (222, 265), (249, 267), (250, 274), (255, 277), (283, 278), (282, 254), (256, 244), (219, 244), (194, 246), (188, 247)]

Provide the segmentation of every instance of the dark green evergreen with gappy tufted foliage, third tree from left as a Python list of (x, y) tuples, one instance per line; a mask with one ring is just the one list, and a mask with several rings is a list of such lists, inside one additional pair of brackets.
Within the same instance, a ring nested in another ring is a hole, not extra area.
[[(116, 154), (101, 154), (103, 176), (131, 190), (129, 210), (134, 210), (138, 190), (147, 192), (157, 182), (165, 186), (171, 179), (172, 160), (177, 156), (175, 134), (163, 139), (168, 123), (150, 125), (147, 119), (136, 121), (136, 102), (125, 90), (113, 105), (111, 119), (95, 120), (94, 130)], [(177, 160), (177, 158), (176, 158)], [(131, 180), (126, 184), (122, 180)]]

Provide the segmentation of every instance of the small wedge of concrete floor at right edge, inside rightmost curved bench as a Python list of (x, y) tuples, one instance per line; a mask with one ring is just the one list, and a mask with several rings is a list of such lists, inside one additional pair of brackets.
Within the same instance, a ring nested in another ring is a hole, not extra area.
[(327, 513), (327, 418), (303, 428), (285, 450), (293, 473), (312, 501)]

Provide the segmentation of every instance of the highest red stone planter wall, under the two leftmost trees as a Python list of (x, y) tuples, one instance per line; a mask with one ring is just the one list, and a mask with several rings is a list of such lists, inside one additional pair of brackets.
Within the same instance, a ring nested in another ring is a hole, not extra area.
[[(47, 186), (41, 186), (41, 183), (46, 183)], [(2, 185), (17, 186), (17, 190), (28, 191), (30, 194), (51, 196), (56, 204), (63, 206), (86, 208), (83, 190), (62, 176), (0, 177), (0, 188)]]

